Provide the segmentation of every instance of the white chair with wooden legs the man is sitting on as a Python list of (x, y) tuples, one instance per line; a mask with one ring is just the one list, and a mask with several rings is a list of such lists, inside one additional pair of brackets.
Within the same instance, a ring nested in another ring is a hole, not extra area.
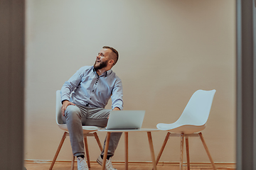
[[(65, 138), (69, 136), (68, 127), (66, 124), (63, 123), (63, 120), (61, 119), (61, 106), (62, 106), (62, 103), (61, 103), (61, 97), (60, 97), (60, 90), (58, 90), (56, 91), (56, 123), (58, 124), (58, 127), (64, 130), (65, 132), (63, 134), (62, 139), (60, 140), (60, 145), (58, 146), (58, 149), (55, 153), (53, 162), (50, 164), (50, 170), (53, 169), (53, 165), (55, 164), (55, 161), (58, 157), (61, 147), (63, 146), (63, 142)], [(89, 168), (90, 168), (90, 157), (89, 157), (89, 150), (88, 150), (88, 144), (87, 144), (87, 136), (94, 136), (95, 140), (97, 141), (97, 144), (100, 147), (100, 151), (102, 151), (102, 145), (100, 143), (99, 137), (97, 136), (97, 132), (95, 132), (99, 129), (100, 127), (97, 127), (97, 126), (82, 126), (84, 140), (85, 140), (85, 153), (86, 153), (87, 164)], [(75, 162), (75, 157), (73, 157), (73, 160), (72, 160), (71, 170), (74, 169), (74, 162)]]

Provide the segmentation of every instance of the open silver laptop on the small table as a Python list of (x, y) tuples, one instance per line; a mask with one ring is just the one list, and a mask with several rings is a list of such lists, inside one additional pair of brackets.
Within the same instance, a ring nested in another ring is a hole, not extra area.
[(145, 111), (110, 111), (107, 130), (142, 128)]

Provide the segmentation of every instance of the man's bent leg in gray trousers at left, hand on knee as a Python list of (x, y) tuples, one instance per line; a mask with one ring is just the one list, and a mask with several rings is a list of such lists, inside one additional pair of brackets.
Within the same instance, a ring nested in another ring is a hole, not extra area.
[(82, 113), (78, 106), (70, 105), (65, 111), (65, 118), (63, 117), (64, 123), (68, 126), (70, 143), (75, 157), (85, 155), (81, 120), (82, 118), (84, 119), (85, 116), (85, 113)]

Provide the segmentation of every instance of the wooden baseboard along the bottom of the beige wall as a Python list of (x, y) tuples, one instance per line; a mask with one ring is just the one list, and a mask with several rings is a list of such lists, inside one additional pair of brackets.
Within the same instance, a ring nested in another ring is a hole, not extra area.
[[(38, 159), (26, 159), (25, 163), (27, 164), (50, 164), (51, 160), (38, 160)], [(91, 161), (91, 164), (97, 164), (96, 161)], [(58, 160), (55, 162), (55, 164), (71, 164), (71, 161), (65, 161), (65, 160)], [(123, 161), (112, 161), (112, 164), (124, 164)], [(152, 164), (152, 162), (129, 162), (129, 164), (133, 165), (143, 165), (143, 164)], [(210, 162), (191, 162), (191, 166), (211, 166)], [(225, 168), (235, 168), (235, 163), (229, 163), (229, 162), (215, 162), (214, 163), (216, 167), (225, 167)], [(186, 166), (186, 162), (183, 164)], [(179, 162), (159, 162), (157, 166), (179, 166)]]

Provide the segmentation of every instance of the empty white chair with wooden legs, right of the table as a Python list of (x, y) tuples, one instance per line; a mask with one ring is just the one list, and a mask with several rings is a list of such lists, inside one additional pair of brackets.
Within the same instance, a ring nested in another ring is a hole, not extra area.
[(184, 109), (181, 117), (175, 123), (166, 124), (159, 123), (156, 125), (156, 128), (159, 130), (169, 131), (166, 135), (164, 143), (160, 149), (159, 155), (156, 158), (156, 164), (159, 162), (161, 154), (164, 151), (164, 147), (166, 146), (166, 142), (169, 140), (169, 137), (181, 137), (181, 157), (180, 157), (180, 169), (183, 167), (183, 142), (184, 138), (186, 139), (186, 156), (187, 156), (187, 167), (190, 169), (189, 163), (189, 149), (188, 149), (188, 137), (200, 137), (203, 142), (203, 147), (206, 149), (206, 153), (210, 159), (210, 163), (213, 165), (213, 169), (215, 168), (215, 164), (213, 162), (212, 157), (210, 156), (210, 152), (208, 147), (206, 146), (206, 142), (203, 139), (203, 135), (201, 130), (206, 128), (206, 122), (208, 120), (208, 116), (210, 114), (210, 108), (213, 103), (213, 96), (215, 94), (215, 90), (211, 91), (196, 91), (191, 99), (188, 101), (186, 108)]

